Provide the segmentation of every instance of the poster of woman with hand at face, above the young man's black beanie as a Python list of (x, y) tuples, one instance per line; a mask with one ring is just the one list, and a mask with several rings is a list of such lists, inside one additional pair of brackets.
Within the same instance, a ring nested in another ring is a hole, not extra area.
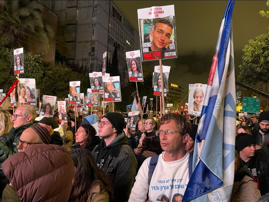
[(121, 86), (119, 76), (103, 77), (105, 101), (120, 102), (121, 101)]

